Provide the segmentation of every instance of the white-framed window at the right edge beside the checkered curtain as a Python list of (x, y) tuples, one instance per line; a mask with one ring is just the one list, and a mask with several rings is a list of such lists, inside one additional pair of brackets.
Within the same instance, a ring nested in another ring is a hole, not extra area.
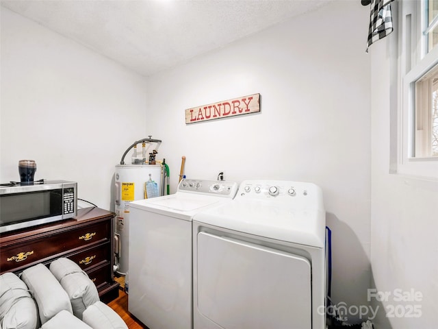
[(399, 173), (438, 178), (438, 0), (398, 3)]

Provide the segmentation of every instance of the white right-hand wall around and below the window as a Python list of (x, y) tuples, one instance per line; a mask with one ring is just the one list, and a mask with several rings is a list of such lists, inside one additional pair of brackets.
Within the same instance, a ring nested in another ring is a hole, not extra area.
[[(438, 326), (438, 182), (389, 174), (389, 40), (370, 48), (372, 58), (371, 260), (374, 287), (389, 293), (378, 307), (376, 328)], [(399, 301), (400, 293), (406, 300)], [(421, 294), (415, 295), (415, 294)], [(420, 315), (416, 317), (414, 315)]]

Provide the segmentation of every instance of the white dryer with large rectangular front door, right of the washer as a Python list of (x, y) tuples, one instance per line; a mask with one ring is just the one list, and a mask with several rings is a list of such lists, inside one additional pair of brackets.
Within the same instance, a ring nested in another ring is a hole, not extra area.
[(318, 186), (247, 180), (193, 219), (194, 329), (325, 329)]

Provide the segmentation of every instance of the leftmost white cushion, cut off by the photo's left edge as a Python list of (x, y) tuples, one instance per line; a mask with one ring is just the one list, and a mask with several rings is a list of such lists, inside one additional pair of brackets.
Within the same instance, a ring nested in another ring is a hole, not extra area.
[(35, 301), (26, 284), (14, 273), (0, 276), (0, 329), (38, 327)]

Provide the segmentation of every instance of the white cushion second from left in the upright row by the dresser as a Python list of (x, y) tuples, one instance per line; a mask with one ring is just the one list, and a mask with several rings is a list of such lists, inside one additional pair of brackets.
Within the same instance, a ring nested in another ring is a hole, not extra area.
[(73, 313), (66, 291), (44, 265), (38, 264), (25, 269), (21, 274), (21, 279), (34, 293), (41, 324), (45, 324), (61, 310)]

